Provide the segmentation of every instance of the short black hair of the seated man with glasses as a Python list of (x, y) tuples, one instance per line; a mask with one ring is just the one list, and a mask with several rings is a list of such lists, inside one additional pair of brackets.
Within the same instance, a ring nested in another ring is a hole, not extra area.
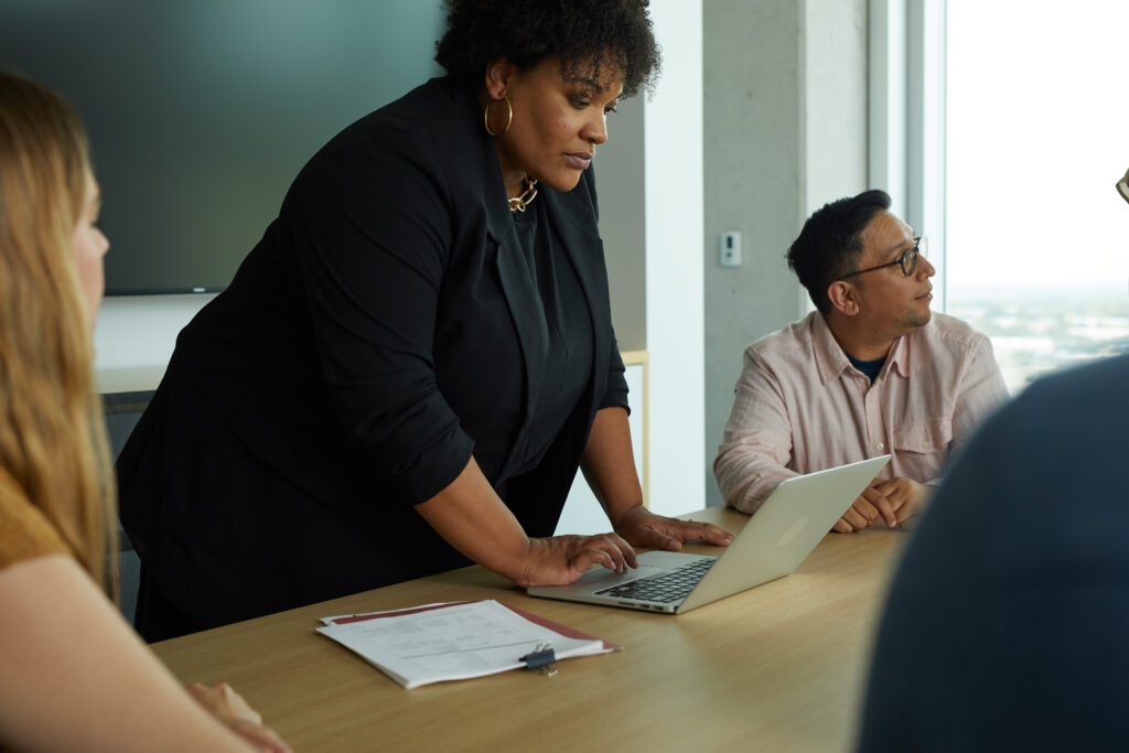
[(875, 189), (824, 204), (804, 222), (788, 249), (788, 266), (824, 316), (831, 310), (828, 286), (855, 271), (863, 253), (863, 230), (887, 209), (890, 195)]

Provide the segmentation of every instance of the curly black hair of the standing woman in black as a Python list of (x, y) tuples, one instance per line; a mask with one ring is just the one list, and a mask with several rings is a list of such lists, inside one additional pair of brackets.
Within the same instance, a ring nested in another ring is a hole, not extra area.
[(601, 69), (612, 65), (623, 77), (622, 96), (630, 97), (640, 87), (654, 90), (662, 61), (647, 12), (649, 0), (445, 0), (445, 5), (447, 29), (436, 42), (435, 60), (464, 84), (481, 85), (487, 65), (500, 58), (527, 69), (557, 55), (567, 78), (601, 80)]

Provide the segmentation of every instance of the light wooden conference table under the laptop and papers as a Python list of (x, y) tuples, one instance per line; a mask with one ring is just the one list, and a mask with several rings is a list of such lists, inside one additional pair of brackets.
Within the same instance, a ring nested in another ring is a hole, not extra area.
[[(737, 531), (710, 509), (684, 517)], [(297, 751), (844, 751), (904, 534), (829, 535), (795, 573), (682, 615), (532, 598), (470, 567), (154, 645), (230, 682)], [(712, 552), (692, 546), (688, 551)], [(624, 650), (404, 690), (318, 618), (495, 598)]]

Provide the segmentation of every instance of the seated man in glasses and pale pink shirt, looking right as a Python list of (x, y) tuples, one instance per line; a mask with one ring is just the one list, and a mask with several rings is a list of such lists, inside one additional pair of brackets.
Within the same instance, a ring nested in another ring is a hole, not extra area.
[(890, 453), (834, 529), (894, 527), (1006, 399), (988, 338), (929, 310), (925, 239), (889, 209), (882, 191), (834, 201), (788, 249), (817, 310), (745, 350), (714, 462), (727, 505), (753, 513), (789, 476)]

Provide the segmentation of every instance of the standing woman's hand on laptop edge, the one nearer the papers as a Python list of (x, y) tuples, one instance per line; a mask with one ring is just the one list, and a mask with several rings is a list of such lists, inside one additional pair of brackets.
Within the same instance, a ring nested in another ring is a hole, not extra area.
[(530, 539), (525, 559), (514, 583), (518, 586), (564, 586), (593, 564), (613, 572), (637, 567), (631, 544), (614, 533), (596, 536), (545, 536)]

